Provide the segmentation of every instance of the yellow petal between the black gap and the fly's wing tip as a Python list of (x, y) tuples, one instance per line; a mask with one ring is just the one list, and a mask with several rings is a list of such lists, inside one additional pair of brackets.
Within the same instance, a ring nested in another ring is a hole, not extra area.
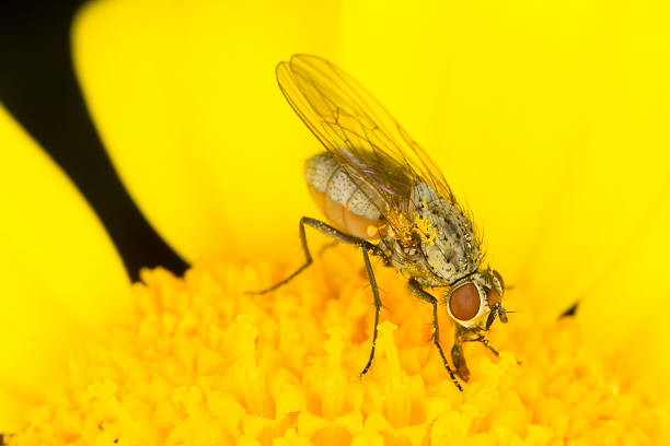
[(187, 259), (272, 244), (300, 255), (298, 219), (315, 213), (302, 162), (319, 143), (274, 69), (296, 51), (333, 56), (336, 25), (333, 2), (311, 1), (99, 1), (77, 17), (77, 73), (105, 145)]

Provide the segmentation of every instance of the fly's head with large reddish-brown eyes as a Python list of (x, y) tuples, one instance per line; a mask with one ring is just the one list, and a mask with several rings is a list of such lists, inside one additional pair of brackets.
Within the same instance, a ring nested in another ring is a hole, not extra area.
[(507, 322), (503, 307), (505, 282), (500, 273), (484, 269), (455, 282), (447, 293), (449, 315), (464, 328), (488, 331), (496, 317)]

